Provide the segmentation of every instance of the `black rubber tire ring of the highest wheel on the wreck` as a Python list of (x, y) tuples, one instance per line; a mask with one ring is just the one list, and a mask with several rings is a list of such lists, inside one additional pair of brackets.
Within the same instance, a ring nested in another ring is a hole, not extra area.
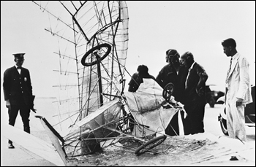
[(107, 55), (110, 53), (111, 51), (111, 45), (110, 44), (99, 44), (96, 47), (92, 47), (91, 50), (89, 50), (86, 54), (83, 55), (83, 58), (81, 60), (81, 63), (83, 66), (93, 66), (94, 64), (97, 64), (97, 61), (92, 61), (91, 63), (86, 63), (86, 58), (88, 55), (90, 55), (91, 53), (94, 52), (94, 50), (99, 50), (101, 47), (108, 47), (107, 52), (101, 57), (99, 58), (99, 61), (102, 61), (104, 58), (107, 57)]

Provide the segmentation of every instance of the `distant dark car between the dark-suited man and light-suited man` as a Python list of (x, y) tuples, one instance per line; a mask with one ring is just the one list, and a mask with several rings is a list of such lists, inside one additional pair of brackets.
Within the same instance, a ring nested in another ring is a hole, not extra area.
[(216, 85), (206, 85), (206, 100), (207, 103), (213, 108), (215, 104), (222, 104), (217, 101), (220, 97), (224, 96), (225, 93), (219, 90), (214, 90)]

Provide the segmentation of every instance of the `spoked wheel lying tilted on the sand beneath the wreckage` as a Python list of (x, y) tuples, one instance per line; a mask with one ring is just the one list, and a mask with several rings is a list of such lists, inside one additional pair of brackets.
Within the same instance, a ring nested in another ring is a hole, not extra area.
[(135, 150), (135, 155), (143, 154), (144, 152), (148, 151), (149, 149), (152, 149), (154, 147), (157, 147), (159, 144), (162, 143), (162, 141), (165, 141), (166, 136), (158, 136), (154, 139), (151, 139), (150, 141), (147, 141), (145, 144), (142, 144), (138, 149)]

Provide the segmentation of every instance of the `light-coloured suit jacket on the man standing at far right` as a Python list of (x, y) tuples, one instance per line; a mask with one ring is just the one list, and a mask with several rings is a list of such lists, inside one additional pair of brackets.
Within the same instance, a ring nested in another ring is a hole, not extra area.
[(242, 98), (242, 104), (252, 103), (251, 86), (249, 81), (249, 63), (240, 53), (233, 56), (232, 66), (227, 74), (226, 87), (228, 99)]

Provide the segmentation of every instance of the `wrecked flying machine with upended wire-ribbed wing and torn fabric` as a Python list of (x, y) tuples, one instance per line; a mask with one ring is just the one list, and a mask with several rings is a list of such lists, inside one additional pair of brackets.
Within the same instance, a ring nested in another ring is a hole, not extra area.
[(162, 132), (184, 110), (171, 96), (173, 85), (162, 89), (153, 79), (143, 79), (136, 93), (124, 92), (125, 1), (33, 2), (49, 15), (50, 28), (45, 30), (59, 39), (59, 69), (54, 70), (59, 77), (59, 99), (54, 101), (58, 123), (36, 117), (64, 165), (68, 158), (101, 152), (115, 143), (126, 143), (140, 155), (170, 137)]

